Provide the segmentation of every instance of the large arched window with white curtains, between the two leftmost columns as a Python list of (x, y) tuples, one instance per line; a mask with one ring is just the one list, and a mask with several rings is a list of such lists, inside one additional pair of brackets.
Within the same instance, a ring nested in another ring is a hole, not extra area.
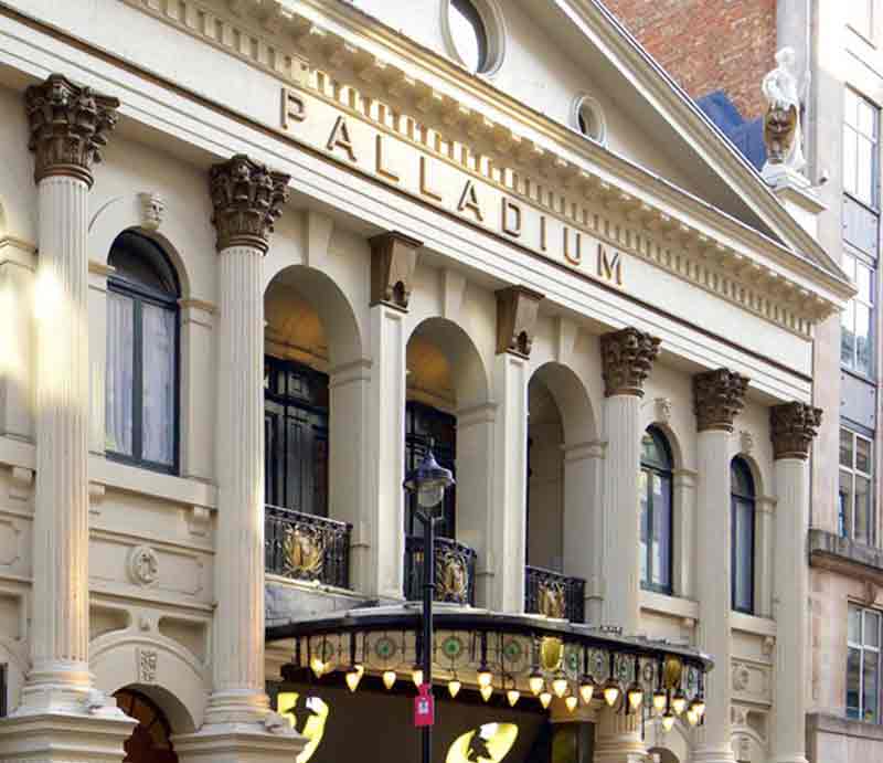
[(178, 469), (178, 277), (162, 250), (134, 231), (108, 264), (105, 447), (111, 458)]

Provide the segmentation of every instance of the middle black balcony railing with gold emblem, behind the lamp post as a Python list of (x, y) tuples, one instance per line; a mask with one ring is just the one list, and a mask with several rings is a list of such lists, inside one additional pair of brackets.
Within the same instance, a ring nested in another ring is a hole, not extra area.
[[(405, 598), (423, 596), (423, 538), (405, 538)], [(435, 539), (435, 601), (472, 605), (476, 601), (476, 552), (450, 538)]]

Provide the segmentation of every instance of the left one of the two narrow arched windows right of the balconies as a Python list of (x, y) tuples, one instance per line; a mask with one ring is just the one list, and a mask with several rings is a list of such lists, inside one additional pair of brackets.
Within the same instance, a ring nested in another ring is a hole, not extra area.
[(671, 593), (671, 448), (650, 426), (641, 439), (641, 585)]

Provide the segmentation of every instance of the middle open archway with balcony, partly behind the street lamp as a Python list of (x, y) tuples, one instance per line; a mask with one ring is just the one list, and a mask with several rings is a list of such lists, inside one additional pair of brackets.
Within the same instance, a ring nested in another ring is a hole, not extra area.
[[(476, 600), (477, 553), (487, 537), (487, 451), (489, 430), (472, 415), (488, 402), (487, 374), (478, 351), (456, 324), (430, 318), (417, 326), (406, 350), (405, 473), (432, 446), (436, 460), (450, 469), (456, 487), (447, 491), (437, 515), (437, 597), (458, 604)], [(485, 438), (485, 447), (481, 442)], [(468, 457), (464, 458), (464, 455)], [(405, 495), (405, 596), (419, 597), (423, 574), (423, 524), (416, 498)]]

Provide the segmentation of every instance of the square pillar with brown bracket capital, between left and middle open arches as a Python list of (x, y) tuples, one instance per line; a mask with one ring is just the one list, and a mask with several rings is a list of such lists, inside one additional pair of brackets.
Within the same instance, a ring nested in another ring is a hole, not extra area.
[(365, 517), (360, 522), (364, 593), (404, 597), (405, 318), (419, 241), (397, 231), (371, 245), (371, 382), (368, 389)]

